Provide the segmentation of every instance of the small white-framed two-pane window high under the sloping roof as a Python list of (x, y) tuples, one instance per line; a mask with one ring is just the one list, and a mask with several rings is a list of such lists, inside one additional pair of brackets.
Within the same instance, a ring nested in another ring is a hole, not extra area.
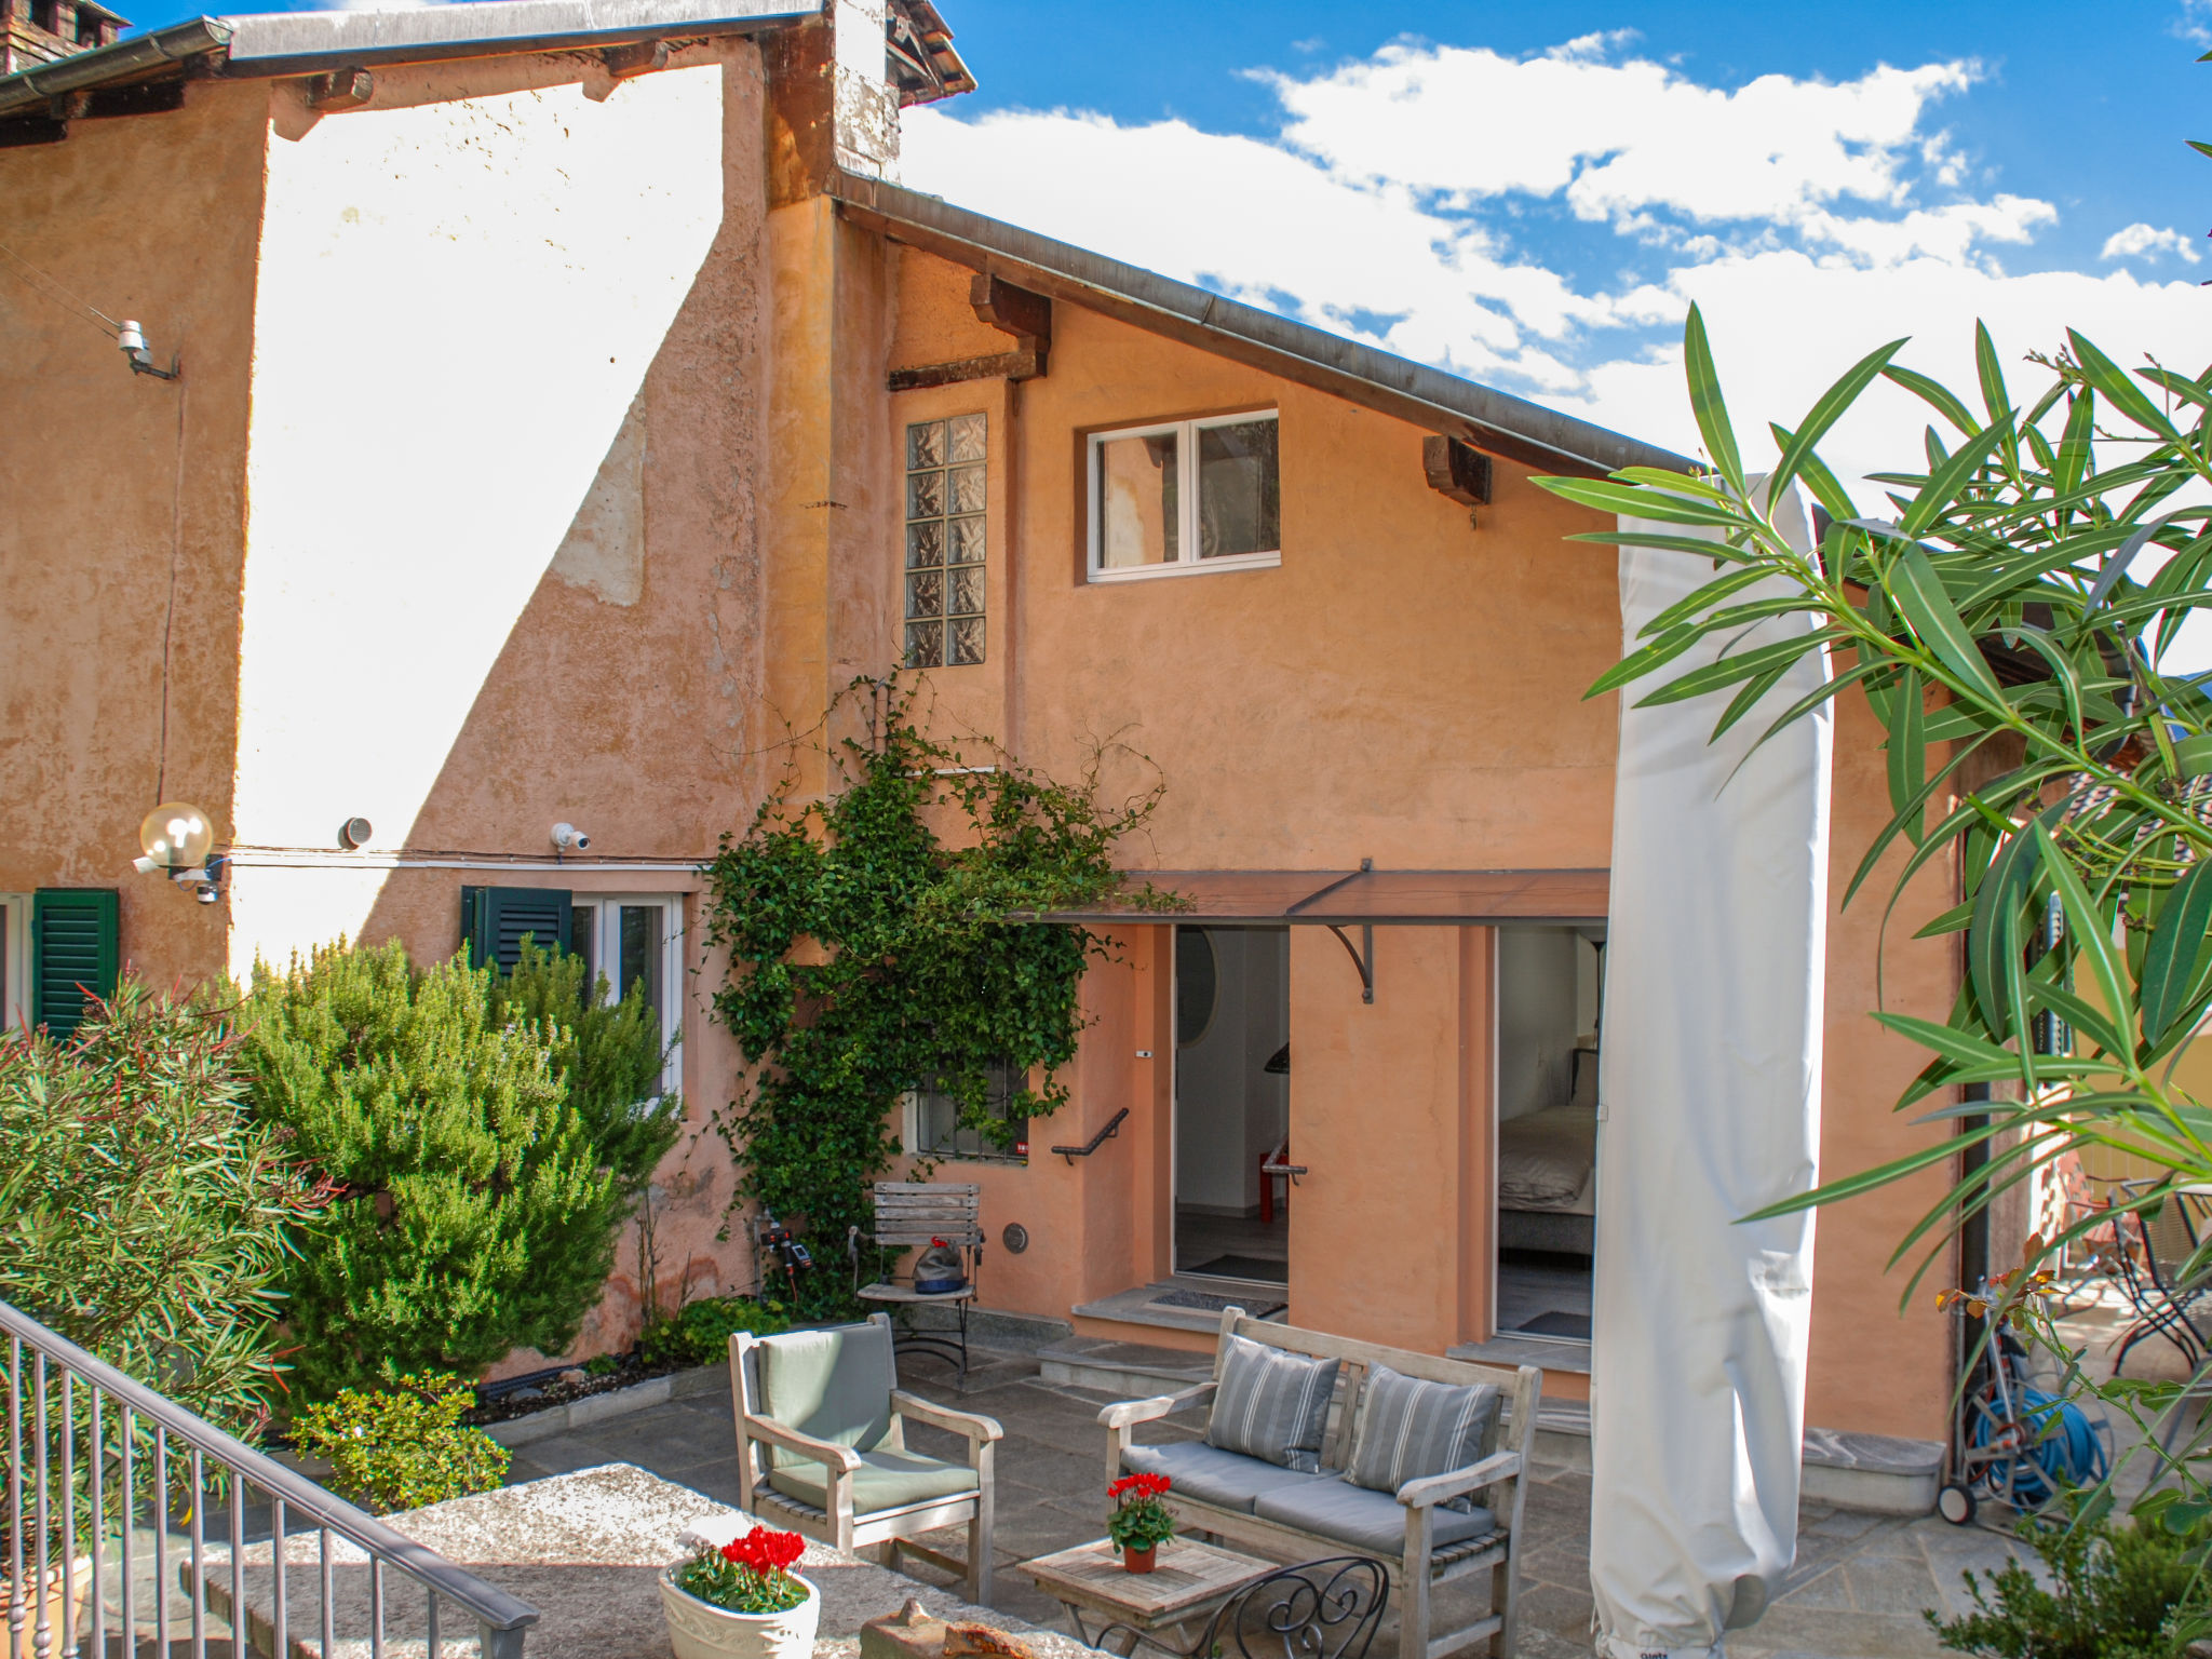
[(1091, 434), (1091, 580), (1281, 564), (1279, 425), (1265, 409)]

